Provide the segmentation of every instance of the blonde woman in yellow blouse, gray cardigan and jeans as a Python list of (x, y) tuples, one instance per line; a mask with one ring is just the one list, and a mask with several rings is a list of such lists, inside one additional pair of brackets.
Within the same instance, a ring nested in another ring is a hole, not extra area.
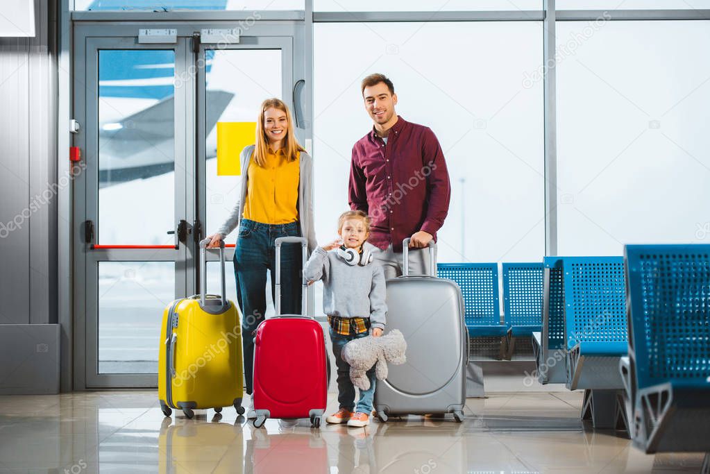
[[(253, 336), (266, 313), (266, 272), (271, 270), (271, 294), (275, 285), (275, 246), (279, 237), (304, 236), (308, 249), (316, 246), (313, 226), (310, 155), (297, 142), (288, 106), (279, 99), (261, 104), (256, 125), (256, 145), (242, 150), (241, 194), (229, 218), (209, 236), (209, 248), (239, 227), (234, 249), (236, 295), (242, 312), (242, 346), (246, 393), (253, 388)], [(281, 248), (281, 311), (299, 314), (301, 248)], [(248, 410), (249, 415), (253, 411)], [(249, 416), (248, 415), (248, 416)]]

